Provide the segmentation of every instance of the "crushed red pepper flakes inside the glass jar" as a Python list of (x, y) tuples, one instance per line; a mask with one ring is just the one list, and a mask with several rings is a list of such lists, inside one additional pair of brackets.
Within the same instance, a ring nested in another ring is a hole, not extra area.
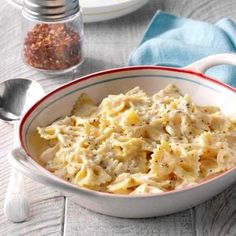
[(62, 70), (80, 63), (81, 37), (68, 24), (36, 24), (24, 41), (24, 58), (29, 65)]

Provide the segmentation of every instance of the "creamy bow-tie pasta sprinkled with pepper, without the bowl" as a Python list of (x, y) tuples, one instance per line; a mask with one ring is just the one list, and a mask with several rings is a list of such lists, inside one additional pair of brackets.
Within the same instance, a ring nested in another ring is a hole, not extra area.
[(81, 94), (70, 116), (38, 127), (39, 162), (73, 184), (113, 194), (161, 193), (236, 166), (236, 119), (168, 85), (135, 87), (97, 105)]

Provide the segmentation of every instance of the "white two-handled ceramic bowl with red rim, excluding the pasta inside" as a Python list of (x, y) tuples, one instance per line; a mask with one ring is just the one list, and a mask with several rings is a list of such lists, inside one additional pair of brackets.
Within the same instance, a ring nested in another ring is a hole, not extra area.
[[(223, 191), (236, 180), (236, 167), (208, 179), (195, 187), (153, 195), (116, 195), (84, 189), (64, 180), (41, 167), (34, 159), (35, 147), (30, 133), (37, 126), (46, 126), (60, 117), (70, 114), (79, 94), (85, 92), (100, 102), (108, 94), (125, 92), (140, 86), (149, 94), (167, 84), (175, 84), (183, 93), (192, 96), (197, 104), (216, 105), (225, 114), (236, 113), (236, 89), (209, 78), (204, 72), (208, 67), (230, 63), (236, 64), (233, 54), (215, 55), (184, 69), (136, 66), (112, 69), (84, 76), (67, 83), (46, 95), (23, 117), (19, 135), (21, 148), (13, 150), (9, 161), (14, 168), (29, 178), (56, 188), (88, 209), (103, 214), (141, 218), (178, 212), (206, 201)], [(27, 154), (26, 154), (27, 153)]]

